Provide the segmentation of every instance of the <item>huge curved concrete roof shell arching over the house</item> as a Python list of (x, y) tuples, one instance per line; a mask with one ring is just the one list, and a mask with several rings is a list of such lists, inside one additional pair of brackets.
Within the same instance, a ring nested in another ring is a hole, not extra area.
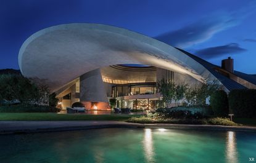
[(216, 79), (209, 70), (178, 49), (115, 26), (72, 23), (31, 35), (20, 48), (19, 66), (28, 78), (47, 79), (57, 90), (82, 74), (109, 65), (142, 64)]

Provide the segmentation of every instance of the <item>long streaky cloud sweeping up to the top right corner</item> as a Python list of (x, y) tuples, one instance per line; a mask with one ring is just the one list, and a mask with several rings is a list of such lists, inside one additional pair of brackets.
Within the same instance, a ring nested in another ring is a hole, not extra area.
[(217, 12), (183, 28), (156, 36), (155, 39), (170, 44), (171, 46), (186, 48), (205, 42), (220, 31), (239, 25), (248, 15), (255, 4), (250, 4), (236, 12)]

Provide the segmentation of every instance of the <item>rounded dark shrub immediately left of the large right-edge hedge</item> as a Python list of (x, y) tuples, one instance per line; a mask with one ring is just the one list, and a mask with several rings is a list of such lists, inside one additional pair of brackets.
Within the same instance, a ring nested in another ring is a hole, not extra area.
[(228, 95), (224, 90), (215, 91), (210, 97), (210, 106), (216, 116), (228, 114)]

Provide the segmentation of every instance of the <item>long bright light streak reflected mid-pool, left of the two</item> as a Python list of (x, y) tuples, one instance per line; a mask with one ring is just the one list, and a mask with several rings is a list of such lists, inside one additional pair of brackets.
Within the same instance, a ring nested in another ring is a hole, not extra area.
[(153, 138), (152, 138), (152, 130), (144, 129), (144, 140), (143, 140), (143, 148), (144, 155), (146, 157), (147, 162), (155, 162), (154, 161), (154, 146), (153, 146)]

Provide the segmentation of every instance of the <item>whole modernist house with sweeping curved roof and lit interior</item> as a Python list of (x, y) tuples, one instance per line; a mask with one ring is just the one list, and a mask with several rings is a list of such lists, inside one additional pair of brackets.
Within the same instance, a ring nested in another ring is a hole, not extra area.
[(156, 39), (115, 26), (72, 23), (38, 31), (20, 48), (23, 76), (45, 79), (65, 107), (153, 109), (156, 82), (195, 85), (218, 80), (226, 92), (255, 89), (256, 76), (233, 70), (233, 59), (213, 65)]

